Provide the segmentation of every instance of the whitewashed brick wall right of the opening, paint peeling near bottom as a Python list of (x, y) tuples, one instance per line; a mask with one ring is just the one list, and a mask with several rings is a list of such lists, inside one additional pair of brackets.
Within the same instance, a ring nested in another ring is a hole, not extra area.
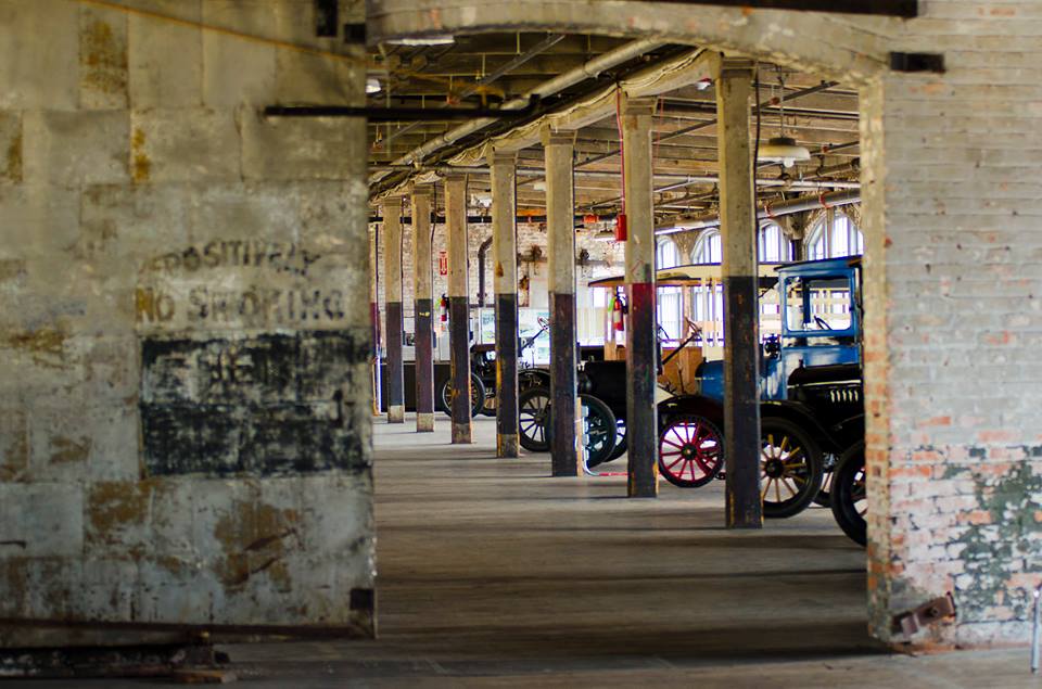
[[(1042, 7), (922, 3), (895, 40), (948, 73), (864, 94), (869, 594), (953, 592), (922, 641), (1030, 637), (1042, 580)], [(871, 194), (871, 195), (869, 195)]]

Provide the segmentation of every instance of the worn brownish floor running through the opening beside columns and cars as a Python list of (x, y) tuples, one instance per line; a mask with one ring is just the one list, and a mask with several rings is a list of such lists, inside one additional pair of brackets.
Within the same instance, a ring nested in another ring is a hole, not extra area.
[[(549, 479), (546, 455), (495, 459), (492, 419), (471, 446), (450, 446), (437, 421), (433, 434), (376, 424), (380, 638), (229, 647), (241, 684), (1042, 686), (1024, 649), (875, 645), (864, 552), (827, 510), (727, 532), (721, 482), (626, 499), (624, 476)], [(98, 686), (144, 684), (163, 682)]]

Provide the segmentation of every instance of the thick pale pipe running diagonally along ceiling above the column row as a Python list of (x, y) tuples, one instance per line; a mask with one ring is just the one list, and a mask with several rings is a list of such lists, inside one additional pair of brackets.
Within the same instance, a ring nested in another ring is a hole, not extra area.
[[(564, 89), (571, 86), (575, 86), (576, 84), (584, 81), (585, 79), (596, 77), (597, 75), (599, 75), (601, 72), (605, 72), (606, 69), (610, 69), (611, 67), (620, 65), (624, 62), (628, 62), (630, 60), (639, 58), (644, 53), (655, 50), (656, 48), (661, 48), (664, 44), (665, 43), (663, 41), (653, 40), (653, 39), (641, 39), (641, 40), (631, 41), (624, 46), (620, 46), (614, 50), (610, 50), (606, 53), (602, 53), (594, 58), (589, 62), (586, 62), (575, 67), (574, 69), (569, 69), (568, 72), (563, 74), (559, 74), (552, 79), (544, 81), (543, 84), (535, 87), (534, 89), (525, 92), (523, 95), (519, 98), (514, 98), (504, 103), (501, 110), (520, 110), (529, 103), (530, 99), (533, 95), (537, 95), (544, 99), (547, 97), (554, 95), (555, 93), (559, 93), (560, 91), (563, 91)], [(398, 158), (395, 158), (391, 164), (392, 165), (409, 165), (418, 161), (422, 161), (424, 157), (431, 155), (432, 153), (439, 151), (440, 149), (450, 145), (456, 141), (459, 141), (463, 137), (468, 137), (476, 131), (481, 131), (485, 127), (488, 127), (490, 125), (493, 125), (497, 122), (498, 122), (497, 119), (492, 119), (487, 117), (471, 120), (466, 125), (460, 125), (455, 129), (450, 129), (449, 131), (446, 131), (445, 133), (439, 137), (435, 137), (434, 139), (431, 139), (424, 144), (417, 146), (416, 149), (412, 149), (405, 155)], [(380, 181), (381, 179), (386, 177), (387, 174), (389, 173), (378, 173), (378, 174), (371, 175), (369, 177), (369, 183), (372, 184), (374, 182)]]

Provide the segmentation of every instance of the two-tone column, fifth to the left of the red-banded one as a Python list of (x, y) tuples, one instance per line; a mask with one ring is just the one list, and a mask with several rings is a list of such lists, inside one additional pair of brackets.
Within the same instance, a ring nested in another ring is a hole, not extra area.
[(383, 301), (387, 343), (387, 423), (405, 422), (405, 373), (402, 366), (402, 199), (383, 202)]

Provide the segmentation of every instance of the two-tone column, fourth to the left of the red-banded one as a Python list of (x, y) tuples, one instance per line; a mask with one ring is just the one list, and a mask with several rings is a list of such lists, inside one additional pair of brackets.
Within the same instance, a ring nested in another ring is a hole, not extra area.
[(416, 430), (434, 430), (434, 294), (430, 184), (412, 188), (412, 273), (416, 352)]

